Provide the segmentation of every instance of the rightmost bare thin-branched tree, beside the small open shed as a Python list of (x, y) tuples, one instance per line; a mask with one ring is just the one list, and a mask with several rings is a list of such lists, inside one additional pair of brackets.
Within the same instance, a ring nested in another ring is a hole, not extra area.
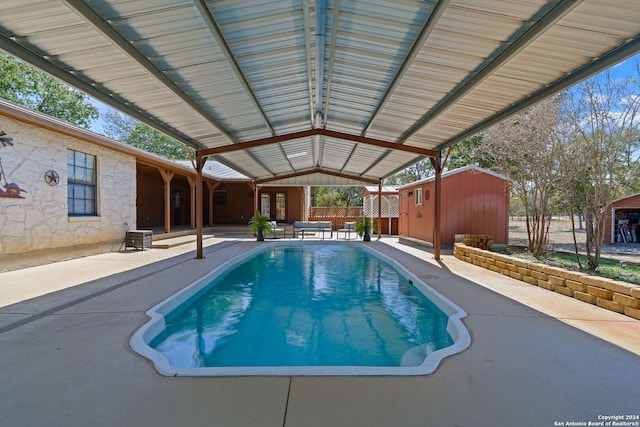
[[(609, 204), (637, 188), (640, 148), (640, 86), (607, 71), (568, 90), (561, 106), (567, 131), (564, 184), (586, 225), (587, 268), (600, 262)], [(578, 200), (580, 199), (580, 200)]]

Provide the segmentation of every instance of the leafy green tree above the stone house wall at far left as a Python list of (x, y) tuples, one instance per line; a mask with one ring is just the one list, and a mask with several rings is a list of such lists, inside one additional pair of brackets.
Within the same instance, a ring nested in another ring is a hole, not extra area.
[(99, 117), (87, 95), (4, 53), (0, 54), (0, 97), (84, 128)]

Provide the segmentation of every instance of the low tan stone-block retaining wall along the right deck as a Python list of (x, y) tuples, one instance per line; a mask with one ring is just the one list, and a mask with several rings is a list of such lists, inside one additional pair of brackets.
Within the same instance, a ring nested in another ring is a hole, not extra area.
[(640, 319), (640, 286), (456, 243), (453, 255), (514, 279)]

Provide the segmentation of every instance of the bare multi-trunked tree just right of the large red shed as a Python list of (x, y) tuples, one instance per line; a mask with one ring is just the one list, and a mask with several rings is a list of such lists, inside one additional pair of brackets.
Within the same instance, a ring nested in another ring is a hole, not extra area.
[(524, 207), (528, 249), (546, 250), (551, 221), (550, 202), (558, 176), (558, 99), (544, 100), (485, 132), (480, 146), (492, 169), (511, 180), (515, 198)]

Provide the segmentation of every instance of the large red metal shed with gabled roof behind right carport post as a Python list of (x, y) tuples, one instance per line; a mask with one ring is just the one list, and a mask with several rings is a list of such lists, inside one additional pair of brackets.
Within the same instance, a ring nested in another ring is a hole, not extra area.
[[(399, 235), (433, 243), (435, 178), (399, 187)], [(441, 243), (456, 234), (482, 234), (496, 244), (509, 240), (509, 181), (480, 168), (465, 166), (442, 174)]]

